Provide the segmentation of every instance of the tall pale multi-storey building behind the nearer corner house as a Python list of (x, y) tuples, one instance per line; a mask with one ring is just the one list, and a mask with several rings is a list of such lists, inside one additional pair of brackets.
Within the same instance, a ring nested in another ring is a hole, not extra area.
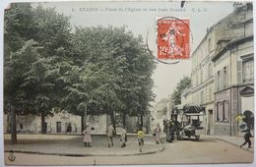
[[(246, 7), (235, 8), (228, 16), (207, 29), (203, 40), (192, 53), (191, 86), (183, 95), (189, 104), (204, 106), (206, 109), (205, 134), (214, 135), (215, 128), (215, 57), (220, 49), (232, 39), (244, 33)], [(183, 103), (183, 102), (182, 102)]]

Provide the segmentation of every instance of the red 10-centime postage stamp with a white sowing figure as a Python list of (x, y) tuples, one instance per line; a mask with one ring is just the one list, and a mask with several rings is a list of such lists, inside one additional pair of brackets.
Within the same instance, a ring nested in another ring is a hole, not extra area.
[(189, 20), (165, 17), (158, 20), (158, 59), (189, 58)]

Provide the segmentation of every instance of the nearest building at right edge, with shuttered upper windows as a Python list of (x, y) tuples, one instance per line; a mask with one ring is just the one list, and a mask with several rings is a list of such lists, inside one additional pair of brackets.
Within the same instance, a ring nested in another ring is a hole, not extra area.
[[(239, 10), (246, 11), (237, 27), (243, 32), (234, 39), (217, 43), (218, 53), (212, 58), (215, 73), (215, 135), (239, 135), (236, 117), (254, 112), (254, 52), (252, 4)], [(225, 43), (223, 43), (225, 42)], [(253, 128), (253, 127), (250, 127)]]

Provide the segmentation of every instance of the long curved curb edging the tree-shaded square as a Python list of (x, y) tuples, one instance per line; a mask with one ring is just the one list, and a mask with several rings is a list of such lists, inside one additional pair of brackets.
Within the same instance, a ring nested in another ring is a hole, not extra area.
[(12, 153), (28, 153), (28, 154), (38, 154), (38, 155), (58, 155), (58, 156), (75, 156), (75, 157), (87, 157), (87, 156), (134, 156), (134, 155), (146, 155), (146, 154), (154, 154), (163, 151), (163, 145), (160, 144), (160, 149), (148, 151), (148, 152), (138, 152), (138, 153), (127, 153), (127, 154), (77, 154), (77, 153), (46, 153), (39, 151), (24, 151), (24, 150), (5, 150), (4, 152), (12, 152)]

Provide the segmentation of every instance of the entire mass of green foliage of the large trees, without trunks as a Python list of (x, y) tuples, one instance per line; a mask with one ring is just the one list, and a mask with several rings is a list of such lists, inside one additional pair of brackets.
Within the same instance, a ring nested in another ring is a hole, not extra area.
[(141, 36), (125, 27), (71, 32), (69, 18), (27, 3), (6, 12), (5, 31), (5, 104), (15, 110), (148, 114), (155, 64)]

